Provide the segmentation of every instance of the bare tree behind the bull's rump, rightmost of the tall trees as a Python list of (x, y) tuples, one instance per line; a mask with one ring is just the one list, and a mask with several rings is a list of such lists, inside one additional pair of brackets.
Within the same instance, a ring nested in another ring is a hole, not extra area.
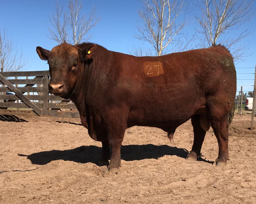
[(231, 35), (248, 22), (255, 10), (253, 0), (202, 0), (200, 5), (202, 16), (196, 16), (200, 25), (197, 30), (200, 46), (209, 47), (221, 43), (231, 50), (235, 60), (244, 55), (246, 45), (237, 43), (250, 34), (249, 29), (242, 30), (237, 36)]

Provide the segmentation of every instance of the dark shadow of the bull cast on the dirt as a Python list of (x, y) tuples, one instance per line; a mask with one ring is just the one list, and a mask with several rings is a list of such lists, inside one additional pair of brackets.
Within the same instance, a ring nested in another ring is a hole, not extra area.
[[(188, 150), (168, 145), (156, 146), (153, 144), (144, 145), (124, 145), (121, 147), (121, 159), (125, 161), (142, 160), (142, 159), (157, 159), (164, 155), (176, 155), (186, 158)], [(51, 150), (33, 153), (31, 155), (19, 154), (19, 156), (27, 157), (32, 164), (48, 164), (54, 160), (73, 161), (79, 163), (92, 162), (97, 164), (101, 155), (101, 148), (97, 146), (81, 146), (75, 149), (68, 150)], [(201, 161), (211, 163), (204, 159)]]

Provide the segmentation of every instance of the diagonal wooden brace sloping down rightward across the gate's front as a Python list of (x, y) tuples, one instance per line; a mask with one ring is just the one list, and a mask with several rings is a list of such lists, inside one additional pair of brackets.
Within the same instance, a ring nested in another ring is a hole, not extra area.
[[(18, 90), (15, 86), (13, 86), (2, 74), (0, 74), (0, 81), (2, 81), (8, 88), (14, 92), (20, 100), (23, 100), (30, 108), (32, 108), (38, 115), (42, 115), (41, 109), (32, 103), (26, 96), (24, 96), (20, 90)], [(26, 87), (27, 88), (27, 87)]]

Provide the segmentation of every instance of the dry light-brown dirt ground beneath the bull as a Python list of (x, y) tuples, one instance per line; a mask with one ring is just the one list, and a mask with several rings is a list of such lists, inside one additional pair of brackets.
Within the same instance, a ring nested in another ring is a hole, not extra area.
[[(256, 132), (251, 114), (235, 114), (229, 159), (214, 167), (218, 144), (212, 129), (201, 161), (186, 161), (190, 121), (172, 142), (157, 128), (126, 130), (122, 166), (97, 166), (101, 143), (79, 119), (0, 115), (0, 203), (256, 203)], [(256, 124), (255, 124), (256, 125)]]

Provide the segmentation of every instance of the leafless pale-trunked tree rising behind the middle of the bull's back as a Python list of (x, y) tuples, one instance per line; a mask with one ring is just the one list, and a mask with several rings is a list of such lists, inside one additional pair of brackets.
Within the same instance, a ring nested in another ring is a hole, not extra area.
[(184, 33), (181, 33), (186, 25), (186, 20), (180, 19), (185, 10), (185, 1), (140, 0), (140, 2), (143, 4), (142, 10), (139, 11), (142, 25), (137, 26), (140, 34), (135, 38), (150, 43), (157, 56), (164, 55), (165, 48), (170, 44), (175, 44), (175, 51), (184, 50), (190, 42), (188, 38), (187, 42), (183, 40)]

